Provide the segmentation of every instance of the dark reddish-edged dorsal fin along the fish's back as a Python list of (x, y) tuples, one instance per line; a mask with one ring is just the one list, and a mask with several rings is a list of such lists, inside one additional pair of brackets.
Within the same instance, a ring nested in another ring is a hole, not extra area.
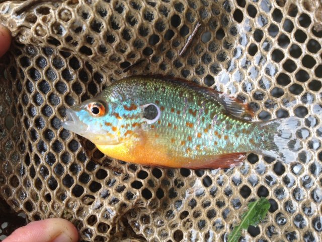
[(251, 121), (254, 118), (254, 110), (251, 108), (251, 106), (248, 103), (243, 102), (235, 97), (231, 97), (222, 92), (217, 92), (211, 88), (202, 87), (196, 83), (189, 82), (187, 80), (176, 78), (176, 77), (171, 77), (171, 76), (153, 75), (153, 76), (141, 76), (141, 77), (161, 79), (161, 80), (169, 81), (181, 86), (191, 88), (195, 91), (203, 93), (208, 97), (213, 98), (218, 104), (223, 106), (223, 108), (229, 114), (231, 114), (234, 117), (247, 120), (247, 121)]

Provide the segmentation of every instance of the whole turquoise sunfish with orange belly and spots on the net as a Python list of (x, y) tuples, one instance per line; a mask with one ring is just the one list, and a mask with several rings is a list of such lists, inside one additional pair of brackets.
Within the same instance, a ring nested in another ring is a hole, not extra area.
[(296, 161), (303, 147), (296, 138), (300, 118), (253, 120), (250, 104), (211, 88), (134, 76), (66, 109), (62, 127), (109, 157), (145, 166), (230, 168), (248, 153)]

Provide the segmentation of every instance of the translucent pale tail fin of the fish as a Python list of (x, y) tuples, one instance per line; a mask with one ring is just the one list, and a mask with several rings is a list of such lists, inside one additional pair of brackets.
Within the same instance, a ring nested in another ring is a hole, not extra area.
[(296, 130), (301, 126), (301, 119), (287, 117), (258, 124), (268, 137), (265, 144), (260, 144), (259, 153), (279, 161), (290, 163), (297, 160), (302, 142), (296, 138)]

